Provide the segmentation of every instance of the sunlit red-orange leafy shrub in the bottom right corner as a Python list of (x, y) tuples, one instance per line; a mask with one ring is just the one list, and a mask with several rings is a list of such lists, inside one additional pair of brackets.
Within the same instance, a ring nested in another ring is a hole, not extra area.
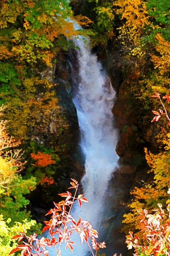
[[(170, 255), (170, 200), (167, 201), (167, 209), (152, 209), (153, 214), (146, 209), (138, 210), (139, 229), (142, 234), (142, 244), (139, 236), (129, 232), (126, 236), (128, 249), (135, 249), (134, 256), (169, 256)], [(143, 253), (143, 254), (142, 254)]]

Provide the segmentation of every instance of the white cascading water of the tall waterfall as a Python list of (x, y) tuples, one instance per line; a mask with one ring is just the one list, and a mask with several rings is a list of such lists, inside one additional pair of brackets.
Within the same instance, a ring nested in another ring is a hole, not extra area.
[[(74, 25), (80, 29), (79, 25)], [(77, 109), (79, 128), (81, 131), (80, 146), (85, 157), (85, 175), (81, 183), (88, 204), (82, 203), (74, 207), (72, 215), (76, 220), (91, 221), (92, 226), (99, 230), (108, 182), (117, 166), (118, 156), (115, 148), (117, 143), (116, 129), (113, 127), (111, 109), (115, 100), (115, 91), (108, 76), (97, 61), (96, 54), (91, 53), (90, 41), (81, 36), (74, 38), (77, 50), (78, 71), (72, 67), (76, 93), (73, 98)], [(74, 178), (74, 177), (73, 177)], [(63, 247), (62, 256), (87, 256), (88, 247), (80, 244), (80, 238), (72, 239), (77, 245), (71, 254)], [(56, 255), (56, 252), (50, 255)]]

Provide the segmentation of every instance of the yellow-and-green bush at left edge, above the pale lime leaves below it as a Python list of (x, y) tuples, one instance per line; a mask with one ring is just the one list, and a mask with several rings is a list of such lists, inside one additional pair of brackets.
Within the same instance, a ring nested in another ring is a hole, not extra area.
[[(7, 132), (7, 121), (3, 120), (4, 108), (0, 108), (0, 212), (4, 219), (10, 218), (8, 226), (14, 221), (31, 221), (31, 214), (26, 210), (29, 201), (25, 195), (36, 187), (36, 179), (24, 180), (20, 172), (23, 169), (20, 142), (10, 137)], [(40, 226), (37, 226), (39, 229)], [(37, 229), (37, 230), (38, 230)]]

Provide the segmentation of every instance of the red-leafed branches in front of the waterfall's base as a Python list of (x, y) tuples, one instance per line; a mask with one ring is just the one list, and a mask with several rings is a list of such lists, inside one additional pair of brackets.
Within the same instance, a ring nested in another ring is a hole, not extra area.
[[(74, 241), (71, 241), (71, 235), (73, 232), (77, 232), (81, 239), (81, 242), (85, 241), (94, 256), (94, 251), (100, 248), (105, 248), (105, 242), (98, 243), (96, 238), (98, 238), (98, 232), (93, 229), (89, 221), (84, 221), (79, 218), (76, 222), (71, 216), (71, 209), (75, 201), (77, 200), (79, 206), (81, 207), (82, 202), (88, 203), (84, 195), (77, 195), (78, 182), (77, 180), (71, 179), (71, 187), (68, 189), (75, 189), (74, 195), (67, 191), (66, 193), (59, 194), (65, 200), (60, 201), (58, 204), (54, 203), (54, 208), (50, 209), (46, 215), (51, 215), (50, 221), (45, 221), (45, 227), (42, 229), (42, 233), (48, 230), (51, 239), (42, 237), (37, 238), (37, 234), (27, 236), (25, 233), (20, 232), (18, 235), (14, 236), (13, 239), (18, 239), (18, 242), (23, 242), (23, 244), (17, 245), (16, 248), (11, 250), (9, 253), (15, 253), (21, 250), (23, 256), (49, 256), (47, 247), (54, 246), (57, 252), (57, 256), (61, 255), (60, 247), (64, 242), (66, 244), (65, 249), (70, 248), (73, 251), (73, 245), (76, 245)], [(90, 242), (92, 246), (90, 245)], [(93, 249), (92, 249), (93, 248)]]

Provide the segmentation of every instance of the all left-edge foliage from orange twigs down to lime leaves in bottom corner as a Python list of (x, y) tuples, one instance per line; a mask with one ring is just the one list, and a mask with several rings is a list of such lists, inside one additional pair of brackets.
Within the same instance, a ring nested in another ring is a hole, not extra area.
[(20, 141), (8, 134), (8, 121), (4, 119), (6, 108), (0, 107), (0, 255), (8, 253), (16, 247), (16, 240), (11, 237), (17, 231), (39, 231), (40, 225), (31, 220), (31, 214), (26, 210), (29, 201), (25, 198), (35, 189), (34, 178), (24, 179), (20, 174), (23, 171), (25, 160), (20, 149)]

